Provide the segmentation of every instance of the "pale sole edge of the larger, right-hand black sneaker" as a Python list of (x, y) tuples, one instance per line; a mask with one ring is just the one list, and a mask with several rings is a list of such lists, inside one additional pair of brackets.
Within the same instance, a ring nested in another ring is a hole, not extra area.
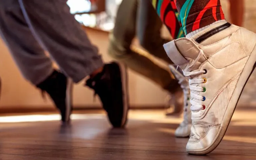
[[(116, 62), (117, 63), (117, 62)], [(129, 92), (128, 92), (128, 74), (127, 69), (124, 64), (117, 63), (120, 72), (121, 72), (121, 80), (122, 80), (122, 91), (123, 91), (123, 118), (121, 122), (121, 127), (124, 127), (127, 123), (127, 116), (129, 110)]]

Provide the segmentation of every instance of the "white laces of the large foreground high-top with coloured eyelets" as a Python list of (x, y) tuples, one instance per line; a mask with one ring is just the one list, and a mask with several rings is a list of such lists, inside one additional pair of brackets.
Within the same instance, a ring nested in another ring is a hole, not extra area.
[(190, 88), (190, 103), (191, 103), (191, 111), (199, 111), (205, 109), (205, 106), (201, 104), (201, 101), (205, 100), (204, 96), (200, 96), (200, 92), (205, 91), (205, 88), (199, 87), (199, 84), (205, 83), (206, 79), (199, 79), (199, 75), (205, 74), (206, 70), (202, 71), (191, 71), (196, 62), (200, 60), (203, 56), (203, 51), (200, 50), (197, 58), (192, 60), (190, 64), (183, 70), (184, 76), (189, 78), (189, 88)]

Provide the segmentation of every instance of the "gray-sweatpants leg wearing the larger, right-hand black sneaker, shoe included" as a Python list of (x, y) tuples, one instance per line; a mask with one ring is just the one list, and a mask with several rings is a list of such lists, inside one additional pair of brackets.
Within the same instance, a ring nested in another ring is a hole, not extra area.
[(124, 67), (119, 63), (103, 64), (97, 48), (70, 14), (66, 1), (19, 0), (19, 3), (33, 35), (65, 75), (74, 82), (90, 75), (86, 85), (99, 95), (112, 125), (123, 127), (129, 108)]

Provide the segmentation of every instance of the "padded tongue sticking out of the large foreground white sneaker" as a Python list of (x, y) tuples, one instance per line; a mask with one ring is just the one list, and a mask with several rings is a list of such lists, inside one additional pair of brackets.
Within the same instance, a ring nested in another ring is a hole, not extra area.
[[(185, 69), (191, 60), (198, 57), (200, 49), (189, 39), (180, 38), (164, 44), (164, 49), (169, 58), (178, 65), (181, 69)], [(198, 69), (201, 63), (206, 60), (206, 56), (195, 64), (192, 70)]]

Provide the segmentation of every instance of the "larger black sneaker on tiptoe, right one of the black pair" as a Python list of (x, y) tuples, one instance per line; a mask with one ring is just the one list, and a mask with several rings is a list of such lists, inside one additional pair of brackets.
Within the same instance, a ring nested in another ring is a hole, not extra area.
[(127, 70), (116, 62), (105, 64), (103, 71), (86, 81), (98, 94), (113, 127), (124, 127), (129, 109)]

